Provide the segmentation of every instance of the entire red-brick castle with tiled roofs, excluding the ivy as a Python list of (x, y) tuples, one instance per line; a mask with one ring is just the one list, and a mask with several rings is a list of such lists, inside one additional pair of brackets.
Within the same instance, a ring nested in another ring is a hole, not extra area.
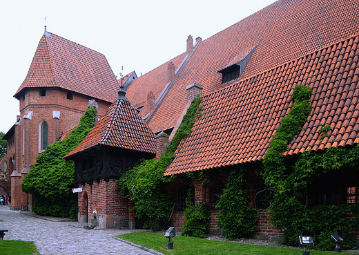
[[(95, 144), (84, 142), (70, 155), (75, 162), (83, 160), (84, 151), (89, 153), (88, 160), (97, 157), (91, 149), (99, 144), (122, 152), (136, 151), (145, 158), (158, 157), (173, 138), (191, 99), (201, 94), (202, 116), (164, 174), (219, 172), (242, 165), (251, 169), (269, 149), (269, 141), (291, 108), (290, 95), (297, 84), (311, 88), (312, 111), (285, 155), (295, 158), (307, 150), (355, 146), (359, 143), (358, 10), (356, 1), (276, 1), (208, 39), (193, 40), (189, 36), (184, 53), (141, 77), (134, 72), (129, 74), (122, 81), (126, 85), (119, 94), (122, 90), (104, 55), (45, 32), (26, 79), (14, 95), (21, 115), (5, 137), (12, 208), (32, 206), (30, 195), (21, 191), (21, 180), (47, 144), (59, 140), (78, 124), (89, 104), (98, 108), (97, 134), (107, 123), (101, 117), (108, 108), (113, 113), (127, 109), (125, 117), (130, 126), (140, 123), (146, 130), (133, 138), (133, 144), (148, 143), (137, 148), (115, 144), (124, 135), (119, 131), (119, 136), (115, 135), (108, 144), (100, 140)], [(111, 120), (118, 125), (124, 123), (115, 115)], [(318, 139), (326, 124), (331, 131)], [(116, 166), (117, 153), (108, 154)], [(124, 159), (121, 162), (122, 167), (109, 166), (101, 173), (90, 173), (90, 169), (81, 166), (75, 169), (81, 173), (77, 184), (83, 188), (79, 194), (79, 220), (97, 217), (98, 224), (104, 227), (136, 227), (130, 211), (133, 205), (122, 197), (113, 197), (117, 192), (116, 180), (132, 164), (124, 163)], [(357, 172), (358, 164), (347, 169), (349, 179), (340, 177), (341, 197), (336, 203), (347, 203), (349, 196), (355, 197), (351, 202), (358, 202), (358, 193), (351, 193), (352, 188), (359, 187)], [(204, 184), (197, 178), (193, 187), (195, 202), (206, 200), (212, 206), (209, 230), (217, 232), (214, 208), (215, 198), (223, 189), (222, 180)], [(334, 194), (332, 187), (333, 180), (322, 185), (318, 201), (325, 197), (334, 202), (339, 193)], [(92, 203), (91, 196), (99, 196), (104, 189), (109, 200), (115, 202)], [(174, 184), (173, 189), (178, 204), (184, 199), (179, 194), (185, 187)], [(249, 194), (253, 207), (266, 209), (264, 189), (262, 180), (253, 178)], [(261, 217), (258, 234), (280, 236), (269, 225), (268, 214)], [(183, 226), (180, 207), (175, 210), (172, 223), (177, 228)]]

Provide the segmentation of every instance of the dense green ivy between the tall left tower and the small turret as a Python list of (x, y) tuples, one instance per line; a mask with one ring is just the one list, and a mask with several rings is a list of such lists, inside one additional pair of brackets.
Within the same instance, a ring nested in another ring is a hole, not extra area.
[(77, 218), (77, 194), (72, 193), (74, 162), (64, 160), (64, 156), (93, 128), (96, 113), (96, 108), (87, 109), (68, 138), (46, 147), (23, 179), (21, 188), (34, 196), (37, 214)]

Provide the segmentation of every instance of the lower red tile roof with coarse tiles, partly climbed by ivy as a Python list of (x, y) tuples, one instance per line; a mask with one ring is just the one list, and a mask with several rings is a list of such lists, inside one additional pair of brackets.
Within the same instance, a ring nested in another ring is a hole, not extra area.
[(358, 44), (359, 35), (204, 96), (202, 116), (165, 175), (262, 160), (297, 84), (313, 91), (312, 111), (286, 155), (358, 144)]

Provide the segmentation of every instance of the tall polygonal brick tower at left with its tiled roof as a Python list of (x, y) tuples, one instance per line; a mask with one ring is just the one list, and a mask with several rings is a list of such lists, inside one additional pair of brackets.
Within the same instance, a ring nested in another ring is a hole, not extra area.
[(20, 115), (6, 133), (11, 171), (11, 209), (32, 207), (21, 182), (48, 144), (79, 124), (88, 106), (98, 118), (116, 99), (117, 79), (106, 57), (45, 30), (23, 83), (14, 97)]

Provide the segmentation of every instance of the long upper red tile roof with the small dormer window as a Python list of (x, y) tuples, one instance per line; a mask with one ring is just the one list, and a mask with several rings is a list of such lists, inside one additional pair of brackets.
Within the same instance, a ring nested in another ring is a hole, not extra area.
[[(217, 91), (222, 79), (217, 71), (243, 50), (257, 46), (239, 79), (358, 34), (358, 12), (359, 1), (343, 0), (280, 0), (255, 12), (200, 42), (148, 125), (155, 133), (173, 128), (186, 105), (186, 86), (200, 84), (204, 95)], [(134, 106), (144, 105), (149, 91), (157, 98), (166, 85), (162, 77), (166, 67), (164, 64), (161, 72), (156, 68), (130, 85), (128, 98)]]

